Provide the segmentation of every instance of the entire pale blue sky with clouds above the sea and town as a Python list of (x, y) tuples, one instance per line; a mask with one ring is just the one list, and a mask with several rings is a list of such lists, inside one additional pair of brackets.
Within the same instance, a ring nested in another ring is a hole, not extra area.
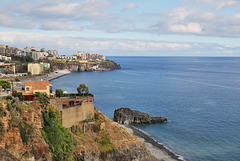
[(106, 56), (240, 56), (240, 0), (1, 0), (0, 45)]

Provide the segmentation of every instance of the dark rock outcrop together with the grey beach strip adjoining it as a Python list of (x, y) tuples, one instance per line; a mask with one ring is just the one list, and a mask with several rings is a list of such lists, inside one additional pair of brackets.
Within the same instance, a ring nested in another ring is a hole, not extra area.
[(119, 123), (120, 126), (126, 128), (129, 133), (134, 134), (138, 137), (139, 140), (144, 141), (149, 151), (149, 154), (152, 156), (151, 161), (182, 161), (183, 159), (173, 153), (171, 150), (167, 149), (163, 145), (159, 144), (148, 134), (139, 130), (138, 128), (130, 125), (131, 123), (163, 123), (167, 122), (165, 117), (151, 117), (147, 113), (140, 111), (131, 110), (129, 108), (120, 108), (114, 111), (114, 121)]

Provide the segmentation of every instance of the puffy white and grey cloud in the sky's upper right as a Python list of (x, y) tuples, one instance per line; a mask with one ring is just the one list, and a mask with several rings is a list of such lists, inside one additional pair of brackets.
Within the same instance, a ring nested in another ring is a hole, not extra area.
[[(203, 5), (204, 6), (201, 6)], [(240, 6), (240, 1), (187, 0), (168, 11), (163, 20), (146, 28), (145, 32), (157, 34), (188, 34), (206, 37), (240, 38), (240, 14), (225, 15), (219, 10)]]

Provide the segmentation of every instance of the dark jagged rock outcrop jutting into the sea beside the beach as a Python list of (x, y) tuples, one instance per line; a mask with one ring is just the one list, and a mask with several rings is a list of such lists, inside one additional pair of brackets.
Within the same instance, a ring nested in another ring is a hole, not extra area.
[(115, 110), (113, 120), (121, 124), (167, 122), (166, 117), (151, 117), (147, 113), (134, 111), (129, 108), (120, 108)]

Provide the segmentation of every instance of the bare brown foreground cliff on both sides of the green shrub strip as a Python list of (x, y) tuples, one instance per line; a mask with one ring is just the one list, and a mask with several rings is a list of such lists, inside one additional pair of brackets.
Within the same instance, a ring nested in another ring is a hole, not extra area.
[[(42, 126), (43, 116), (39, 103), (14, 106), (11, 101), (0, 102), (1, 157), (5, 157), (6, 160), (8, 158), (10, 160), (52, 160), (49, 143), (45, 142), (43, 139), (45, 137), (41, 133)], [(97, 109), (94, 110), (93, 119), (80, 122), (70, 130), (75, 146), (74, 160), (149, 160), (144, 142), (105, 117)]]

